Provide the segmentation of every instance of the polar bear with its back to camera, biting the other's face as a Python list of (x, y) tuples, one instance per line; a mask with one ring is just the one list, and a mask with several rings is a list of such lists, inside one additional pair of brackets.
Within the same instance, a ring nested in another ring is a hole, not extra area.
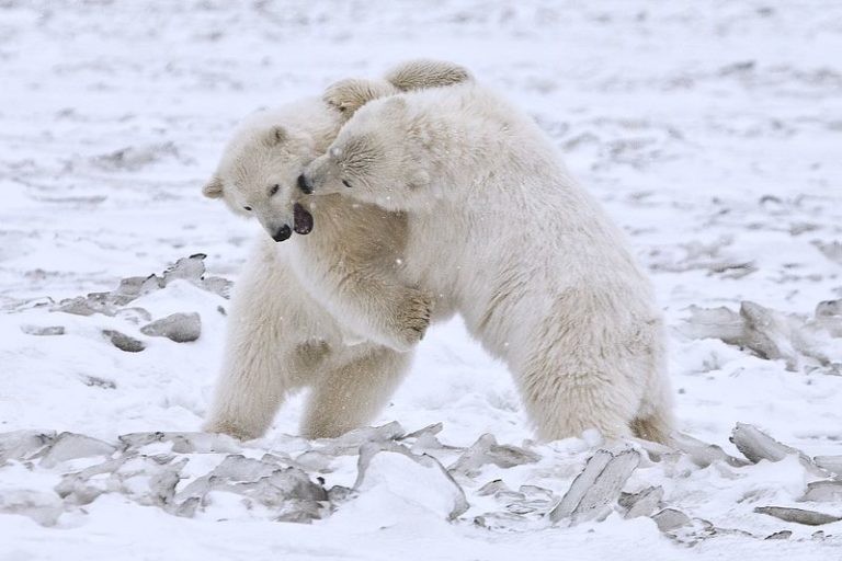
[(539, 437), (594, 427), (665, 442), (649, 280), (535, 123), (475, 82), (375, 101), (346, 89), (346, 112), (362, 106), (301, 188), (408, 214), (407, 282), (451, 295), (509, 366)]

